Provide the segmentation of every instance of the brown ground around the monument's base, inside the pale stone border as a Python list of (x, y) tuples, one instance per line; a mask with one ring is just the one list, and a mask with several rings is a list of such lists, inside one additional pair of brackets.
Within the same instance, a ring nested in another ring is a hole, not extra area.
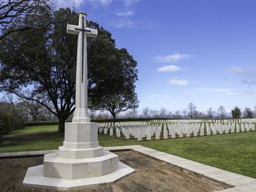
[[(224, 185), (210, 183), (195, 174), (162, 161), (155, 160), (135, 151), (116, 151), (119, 160), (136, 170), (135, 174), (113, 185), (101, 185), (77, 191), (218, 191)], [(53, 191), (22, 186), (23, 177), (29, 166), (42, 164), (43, 157), (0, 158), (1, 191)]]

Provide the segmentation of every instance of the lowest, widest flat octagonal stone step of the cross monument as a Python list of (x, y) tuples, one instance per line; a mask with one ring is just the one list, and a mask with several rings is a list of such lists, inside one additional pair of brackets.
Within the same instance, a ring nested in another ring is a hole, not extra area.
[(131, 167), (118, 161), (118, 169), (100, 177), (88, 177), (76, 180), (59, 179), (43, 176), (44, 165), (29, 167), (23, 180), (24, 186), (37, 188), (54, 188), (59, 190), (71, 190), (94, 187), (97, 185), (112, 184), (135, 172)]

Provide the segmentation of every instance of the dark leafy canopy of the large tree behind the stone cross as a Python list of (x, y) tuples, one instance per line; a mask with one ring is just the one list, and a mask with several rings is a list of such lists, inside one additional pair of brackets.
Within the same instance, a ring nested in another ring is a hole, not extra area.
[[(63, 132), (64, 120), (75, 110), (78, 38), (67, 34), (66, 26), (78, 24), (78, 13), (68, 8), (32, 13), (16, 18), (15, 25), (45, 26), (51, 20), (65, 21), (45, 28), (15, 31), (1, 39), (0, 87), (47, 107), (59, 118), (59, 131)], [(99, 34), (96, 39), (88, 39), (89, 106), (108, 110), (113, 117), (117, 112), (138, 107), (137, 62), (126, 49), (116, 48), (109, 31), (92, 21), (88, 26), (97, 28)], [(48, 107), (49, 102), (53, 108)]]

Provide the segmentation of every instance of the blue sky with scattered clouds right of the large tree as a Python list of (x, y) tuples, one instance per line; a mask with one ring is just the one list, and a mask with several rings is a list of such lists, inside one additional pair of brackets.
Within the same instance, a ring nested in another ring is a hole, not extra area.
[(77, 0), (75, 7), (138, 61), (139, 111), (255, 106), (255, 0)]

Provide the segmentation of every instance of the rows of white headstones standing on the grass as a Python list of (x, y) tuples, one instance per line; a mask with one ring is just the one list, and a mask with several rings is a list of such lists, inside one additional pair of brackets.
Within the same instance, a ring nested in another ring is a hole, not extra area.
[[(148, 122), (122, 122), (116, 123), (113, 128), (111, 123), (99, 123), (99, 134), (110, 134), (116, 137), (126, 139), (135, 138), (138, 141), (151, 139), (175, 139), (183, 137), (197, 137), (206, 135), (217, 134), (233, 134), (245, 131), (255, 131), (256, 119), (248, 120), (227, 120), (224, 123), (219, 120), (208, 121), (197, 120), (191, 122), (190, 120), (171, 120), (169, 122), (155, 121), (154, 123)], [(160, 137), (160, 136), (163, 137)]]

